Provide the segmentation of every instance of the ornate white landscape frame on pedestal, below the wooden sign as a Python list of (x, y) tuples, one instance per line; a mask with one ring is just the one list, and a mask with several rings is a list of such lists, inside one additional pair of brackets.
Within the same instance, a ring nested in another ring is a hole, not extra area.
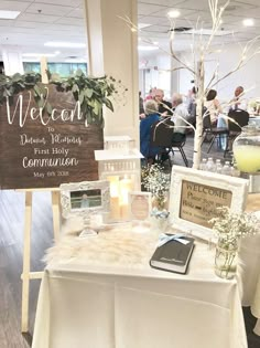
[(107, 180), (62, 183), (59, 190), (65, 219), (109, 211), (110, 191)]

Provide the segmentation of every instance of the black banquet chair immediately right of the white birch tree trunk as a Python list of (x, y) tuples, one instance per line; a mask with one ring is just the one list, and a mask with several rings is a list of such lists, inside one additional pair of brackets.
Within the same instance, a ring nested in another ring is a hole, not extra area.
[[(209, 147), (207, 149), (207, 154), (210, 151), (215, 139), (218, 138), (220, 140), (220, 137), (224, 135), (226, 137), (228, 137), (229, 130), (227, 128), (224, 128), (224, 127), (213, 126), (212, 122), (210, 122), (210, 115), (205, 109), (204, 110), (204, 117), (203, 117), (203, 141), (202, 141), (202, 145), (205, 143), (205, 140), (208, 136), (212, 137), (209, 140), (210, 144), (209, 144)], [(227, 151), (227, 147), (228, 147), (228, 141), (226, 141), (226, 148), (225, 148), (224, 154)]]

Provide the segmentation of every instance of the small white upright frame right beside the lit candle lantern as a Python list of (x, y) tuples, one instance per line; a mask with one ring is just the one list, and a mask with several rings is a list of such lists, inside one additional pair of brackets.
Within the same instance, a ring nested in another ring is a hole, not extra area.
[(148, 221), (152, 210), (152, 193), (129, 192), (129, 218), (132, 221)]

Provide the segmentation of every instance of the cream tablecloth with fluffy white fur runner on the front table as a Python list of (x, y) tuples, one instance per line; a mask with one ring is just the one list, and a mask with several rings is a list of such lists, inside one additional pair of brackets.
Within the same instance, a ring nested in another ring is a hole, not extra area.
[(236, 281), (196, 242), (187, 275), (149, 266), (156, 236), (64, 238), (48, 256), (33, 348), (246, 348)]

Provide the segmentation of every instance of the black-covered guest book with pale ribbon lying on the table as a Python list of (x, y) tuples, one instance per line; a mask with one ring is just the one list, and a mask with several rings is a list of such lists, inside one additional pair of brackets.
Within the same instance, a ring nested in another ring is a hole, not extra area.
[(172, 239), (155, 250), (150, 265), (153, 268), (185, 274), (194, 246), (194, 239), (191, 236)]

